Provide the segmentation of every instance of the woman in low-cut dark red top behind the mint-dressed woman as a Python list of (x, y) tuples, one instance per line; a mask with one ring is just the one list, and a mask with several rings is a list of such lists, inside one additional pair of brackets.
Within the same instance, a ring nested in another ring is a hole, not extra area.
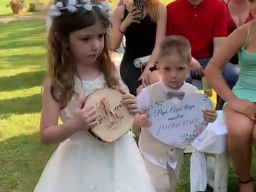
[[(252, 14), (248, 10), (248, 0), (223, 0), (228, 8), (228, 35), (236, 28), (250, 22), (253, 19)], [(238, 54), (236, 53), (231, 59), (230, 63), (238, 64)]]

